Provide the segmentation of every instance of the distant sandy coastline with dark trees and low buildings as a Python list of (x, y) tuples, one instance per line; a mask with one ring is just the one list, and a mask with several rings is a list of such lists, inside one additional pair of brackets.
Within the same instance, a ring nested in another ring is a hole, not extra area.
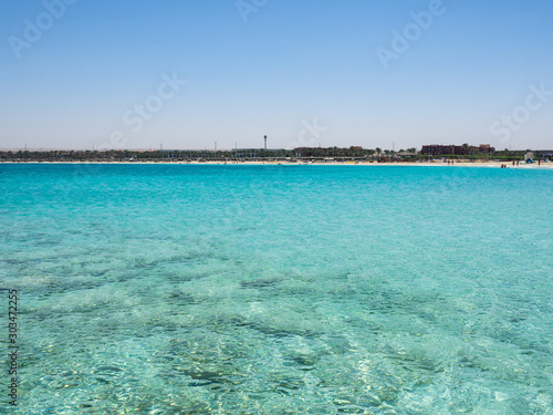
[[(146, 164), (255, 164), (255, 165), (491, 165), (514, 167), (553, 164), (553, 151), (495, 151), (489, 145), (422, 146), (398, 152), (382, 148), (298, 147), (191, 149), (0, 149), (0, 163), (146, 163)], [(534, 163), (535, 162), (535, 163)], [(530, 166), (529, 166), (530, 167)]]

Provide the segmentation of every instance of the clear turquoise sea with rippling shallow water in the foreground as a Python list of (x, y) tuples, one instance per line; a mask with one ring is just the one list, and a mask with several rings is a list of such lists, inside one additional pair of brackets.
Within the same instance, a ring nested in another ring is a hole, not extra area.
[(0, 190), (19, 414), (553, 414), (551, 169), (0, 165)]

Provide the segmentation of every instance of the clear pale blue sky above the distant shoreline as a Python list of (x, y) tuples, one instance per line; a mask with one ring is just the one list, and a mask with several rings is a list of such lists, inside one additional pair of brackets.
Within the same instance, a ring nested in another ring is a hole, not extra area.
[(553, 148), (551, 0), (4, 0), (0, 148)]

